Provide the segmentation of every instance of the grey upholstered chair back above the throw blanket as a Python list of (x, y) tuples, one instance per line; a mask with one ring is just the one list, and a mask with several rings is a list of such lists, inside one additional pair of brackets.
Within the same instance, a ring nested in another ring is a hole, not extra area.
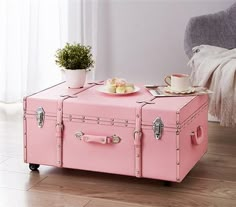
[(184, 38), (185, 53), (191, 58), (192, 48), (202, 44), (236, 48), (236, 3), (225, 11), (189, 20)]

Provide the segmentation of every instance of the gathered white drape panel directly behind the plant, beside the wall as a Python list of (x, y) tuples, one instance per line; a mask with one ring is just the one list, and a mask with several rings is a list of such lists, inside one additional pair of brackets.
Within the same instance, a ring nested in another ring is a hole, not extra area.
[[(104, 0), (70, 0), (68, 4), (68, 41), (92, 46), (93, 58), (97, 60), (97, 37), (99, 5)], [(87, 81), (95, 79), (95, 67), (87, 74)]]

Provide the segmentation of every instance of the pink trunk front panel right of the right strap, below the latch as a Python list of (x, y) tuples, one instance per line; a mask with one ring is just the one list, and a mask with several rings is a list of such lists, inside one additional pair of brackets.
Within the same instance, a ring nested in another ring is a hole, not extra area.
[(151, 127), (143, 129), (143, 177), (176, 181), (176, 141), (176, 129), (164, 128), (159, 140)]

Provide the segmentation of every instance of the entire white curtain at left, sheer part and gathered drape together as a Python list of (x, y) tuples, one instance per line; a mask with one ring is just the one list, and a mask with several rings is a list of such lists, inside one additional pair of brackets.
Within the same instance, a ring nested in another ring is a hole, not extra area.
[[(96, 58), (96, 0), (0, 0), (0, 102), (61, 81), (55, 52), (66, 42), (93, 48)], [(89, 74), (94, 79), (94, 71)]]

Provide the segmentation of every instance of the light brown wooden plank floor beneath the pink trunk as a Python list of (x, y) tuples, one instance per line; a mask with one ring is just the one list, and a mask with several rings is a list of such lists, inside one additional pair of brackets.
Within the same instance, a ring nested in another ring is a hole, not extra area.
[[(236, 129), (209, 123), (209, 150), (182, 183), (23, 162), (21, 105), (0, 104), (0, 207), (233, 207)], [(42, 149), (43, 153), (43, 149)]]

